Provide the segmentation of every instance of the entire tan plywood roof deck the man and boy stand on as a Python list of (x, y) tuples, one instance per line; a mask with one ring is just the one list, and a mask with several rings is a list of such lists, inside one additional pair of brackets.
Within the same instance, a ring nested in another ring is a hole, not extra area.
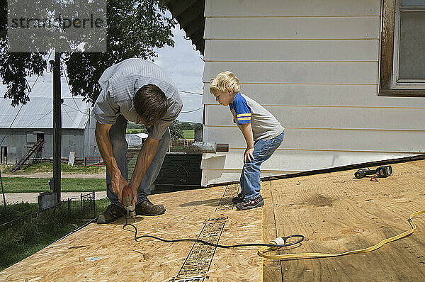
[[(305, 235), (285, 250), (294, 253), (361, 249), (408, 230), (409, 215), (425, 210), (425, 161), (392, 168), (378, 182), (353, 179), (355, 170), (264, 181), (264, 207), (247, 211), (229, 204), (238, 185), (153, 195), (167, 212), (139, 217), (135, 225), (140, 235), (220, 244)], [(374, 252), (293, 261), (261, 259), (251, 248), (135, 242), (123, 220), (91, 224), (5, 269), (0, 281), (423, 281), (425, 216), (414, 221), (413, 235)]]

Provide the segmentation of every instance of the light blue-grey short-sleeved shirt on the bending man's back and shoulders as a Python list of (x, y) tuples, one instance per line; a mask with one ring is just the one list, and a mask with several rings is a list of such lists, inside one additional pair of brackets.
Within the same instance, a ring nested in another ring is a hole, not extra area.
[(162, 120), (152, 125), (150, 136), (160, 140), (169, 125), (179, 115), (183, 103), (174, 82), (153, 62), (132, 58), (114, 64), (103, 72), (98, 83), (102, 91), (94, 104), (94, 116), (99, 123), (114, 124), (118, 115), (142, 124), (133, 107), (133, 97), (146, 84), (158, 86), (166, 96), (168, 110)]

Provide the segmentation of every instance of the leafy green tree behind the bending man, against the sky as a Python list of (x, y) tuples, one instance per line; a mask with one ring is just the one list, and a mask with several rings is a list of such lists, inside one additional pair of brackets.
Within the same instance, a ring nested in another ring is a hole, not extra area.
[[(107, 52), (73, 52), (64, 54), (69, 84), (74, 96), (84, 96), (94, 103), (103, 71), (130, 57), (152, 59), (154, 48), (174, 46), (171, 28), (176, 21), (165, 16), (166, 6), (160, 0), (108, 0)], [(0, 0), (0, 32), (5, 28), (6, 0)], [(3, 25), (3, 26), (1, 26)], [(12, 106), (27, 103), (28, 75), (40, 75), (47, 63), (43, 53), (8, 53), (7, 40), (0, 36), (0, 78), (8, 84), (5, 98), (12, 98)]]

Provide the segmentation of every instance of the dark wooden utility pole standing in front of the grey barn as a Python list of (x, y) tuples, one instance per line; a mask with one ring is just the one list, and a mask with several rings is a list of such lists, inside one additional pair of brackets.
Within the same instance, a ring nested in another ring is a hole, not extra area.
[(60, 203), (61, 191), (61, 141), (62, 141), (62, 98), (60, 94), (60, 52), (55, 51), (55, 60), (50, 61), (53, 67), (53, 192), (56, 193), (57, 203)]

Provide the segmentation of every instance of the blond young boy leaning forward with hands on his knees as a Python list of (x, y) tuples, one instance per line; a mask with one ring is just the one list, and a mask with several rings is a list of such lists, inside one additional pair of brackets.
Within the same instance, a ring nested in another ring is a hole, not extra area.
[(246, 141), (244, 167), (240, 184), (241, 193), (232, 198), (238, 210), (261, 207), (260, 165), (270, 158), (283, 141), (284, 128), (259, 103), (239, 92), (239, 80), (232, 72), (220, 72), (210, 83), (215, 101), (229, 106), (233, 122), (242, 131)]

